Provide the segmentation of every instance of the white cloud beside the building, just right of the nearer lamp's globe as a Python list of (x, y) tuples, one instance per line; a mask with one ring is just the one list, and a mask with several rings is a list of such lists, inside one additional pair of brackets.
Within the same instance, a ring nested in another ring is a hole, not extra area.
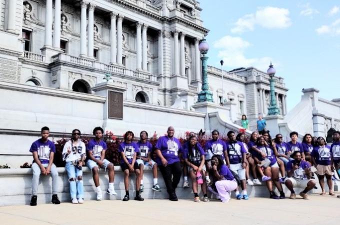
[(249, 46), (251, 46), (251, 43), (243, 40), (241, 37), (229, 35), (213, 42), (213, 47), (219, 49), (218, 57), (223, 59), (225, 66), (228, 68), (253, 66), (266, 71), (271, 58), (268, 56), (247, 58), (244, 55), (244, 51)]

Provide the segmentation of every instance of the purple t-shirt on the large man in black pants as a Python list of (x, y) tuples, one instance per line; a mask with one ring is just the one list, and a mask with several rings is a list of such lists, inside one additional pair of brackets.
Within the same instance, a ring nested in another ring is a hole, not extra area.
[[(159, 149), (163, 157), (167, 160), (167, 164), (172, 164), (179, 161), (178, 153), (182, 148), (179, 140), (176, 137), (161, 136), (158, 138), (156, 149)], [(157, 164), (161, 165), (161, 160), (156, 157)]]

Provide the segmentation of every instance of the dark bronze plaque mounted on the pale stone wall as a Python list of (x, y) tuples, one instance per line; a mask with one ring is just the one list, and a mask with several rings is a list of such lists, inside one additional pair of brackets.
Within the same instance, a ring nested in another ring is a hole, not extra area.
[(123, 93), (108, 91), (108, 118), (123, 119)]

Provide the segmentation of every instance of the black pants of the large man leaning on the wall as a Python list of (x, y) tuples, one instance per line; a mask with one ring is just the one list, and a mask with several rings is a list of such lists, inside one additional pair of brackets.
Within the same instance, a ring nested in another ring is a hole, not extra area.
[(159, 170), (164, 178), (167, 192), (174, 192), (182, 174), (179, 161), (167, 164), (166, 166), (160, 165)]

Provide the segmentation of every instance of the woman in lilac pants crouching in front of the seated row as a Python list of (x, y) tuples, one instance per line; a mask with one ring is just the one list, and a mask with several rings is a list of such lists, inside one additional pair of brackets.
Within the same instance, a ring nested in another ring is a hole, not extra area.
[(230, 200), (230, 191), (237, 187), (237, 182), (220, 155), (211, 157), (211, 167), (218, 195), (222, 202), (228, 202)]

